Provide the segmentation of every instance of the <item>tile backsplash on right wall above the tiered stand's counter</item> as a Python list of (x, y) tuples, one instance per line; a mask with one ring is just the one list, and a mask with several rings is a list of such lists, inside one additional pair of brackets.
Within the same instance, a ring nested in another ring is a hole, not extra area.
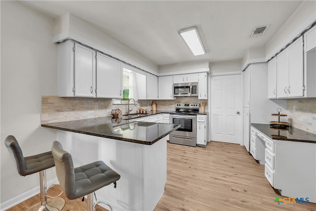
[(316, 98), (288, 99), (287, 110), (292, 127), (316, 134)]

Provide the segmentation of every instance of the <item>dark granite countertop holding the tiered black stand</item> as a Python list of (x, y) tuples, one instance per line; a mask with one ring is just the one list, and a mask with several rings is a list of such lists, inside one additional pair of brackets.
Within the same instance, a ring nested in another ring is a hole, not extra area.
[(269, 124), (251, 123), (251, 126), (271, 139), (316, 143), (316, 134), (295, 127), (289, 127), (288, 130), (276, 130), (270, 128)]

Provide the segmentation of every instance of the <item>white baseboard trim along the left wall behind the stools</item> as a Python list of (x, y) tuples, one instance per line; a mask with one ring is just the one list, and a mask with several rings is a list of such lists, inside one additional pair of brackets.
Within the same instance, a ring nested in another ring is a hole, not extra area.
[[(49, 180), (49, 181), (47, 181), (47, 187), (49, 187), (52, 184), (56, 184), (56, 183), (59, 183), (57, 178)], [(29, 190), (25, 193), (20, 194), (12, 199), (9, 199), (9, 200), (1, 203), (0, 210), (5, 211), (5, 210), (21, 203), (21, 202), (24, 202), (25, 200), (27, 200), (27, 199), (29, 199), (29, 198), (31, 198), (39, 193), (40, 193), (40, 185), (36, 186), (35, 188), (32, 188), (31, 190)]]

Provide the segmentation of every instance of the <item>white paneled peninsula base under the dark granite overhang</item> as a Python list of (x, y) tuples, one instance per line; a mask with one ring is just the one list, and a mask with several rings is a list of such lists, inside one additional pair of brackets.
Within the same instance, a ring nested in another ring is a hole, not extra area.
[(98, 201), (107, 202), (113, 210), (120, 211), (154, 210), (167, 179), (168, 138), (169, 135), (145, 145), (62, 130), (57, 132), (57, 140), (71, 153), (75, 168), (102, 160), (121, 175), (117, 188), (110, 184), (96, 191)]

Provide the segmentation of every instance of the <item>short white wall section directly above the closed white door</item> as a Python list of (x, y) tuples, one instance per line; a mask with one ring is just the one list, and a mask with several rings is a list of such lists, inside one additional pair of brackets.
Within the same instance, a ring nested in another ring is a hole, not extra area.
[(223, 61), (223, 62), (211, 62), (209, 63), (209, 69), (211, 74), (228, 73), (228, 72), (240, 72), (241, 71), (241, 59)]

